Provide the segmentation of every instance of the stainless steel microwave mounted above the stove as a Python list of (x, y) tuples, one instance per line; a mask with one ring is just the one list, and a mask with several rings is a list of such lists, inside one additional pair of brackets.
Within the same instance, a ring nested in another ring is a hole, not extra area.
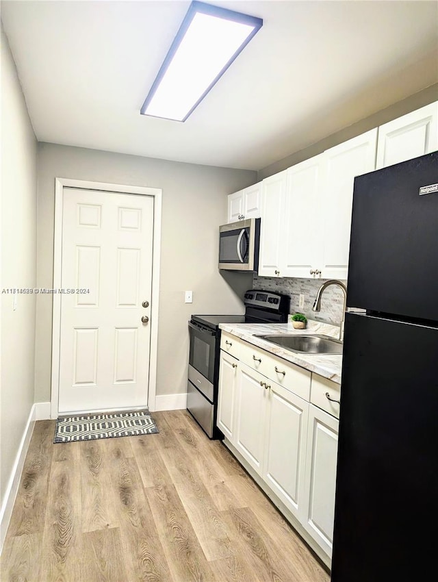
[(260, 218), (219, 227), (219, 268), (256, 271), (259, 268)]

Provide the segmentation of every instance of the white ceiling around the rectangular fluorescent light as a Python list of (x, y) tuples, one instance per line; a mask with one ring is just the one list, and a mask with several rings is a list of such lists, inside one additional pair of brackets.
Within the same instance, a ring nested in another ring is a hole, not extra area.
[(190, 1), (2, 1), (39, 141), (259, 170), (438, 81), (436, 1), (216, 1), (263, 27), (185, 123), (140, 107)]

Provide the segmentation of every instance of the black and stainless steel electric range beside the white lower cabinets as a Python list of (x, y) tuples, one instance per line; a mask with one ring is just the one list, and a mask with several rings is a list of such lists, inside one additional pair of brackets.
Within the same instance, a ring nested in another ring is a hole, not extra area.
[(209, 438), (223, 438), (216, 427), (220, 323), (285, 323), (289, 303), (287, 295), (249, 290), (244, 296), (242, 315), (192, 315), (187, 409)]

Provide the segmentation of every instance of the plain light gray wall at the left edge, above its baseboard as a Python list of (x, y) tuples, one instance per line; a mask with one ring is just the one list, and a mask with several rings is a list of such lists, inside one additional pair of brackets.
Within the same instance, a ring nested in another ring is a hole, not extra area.
[[(36, 138), (1, 29), (1, 289), (36, 284)], [(1, 294), (0, 494), (34, 404), (35, 296)], [(2, 536), (3, 538), (3, 536)]]

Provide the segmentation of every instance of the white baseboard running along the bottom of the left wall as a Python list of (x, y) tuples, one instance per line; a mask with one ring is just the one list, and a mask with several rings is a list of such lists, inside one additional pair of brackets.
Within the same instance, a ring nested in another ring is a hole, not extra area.
[(27, 449), (29, 448), (29, 442), (31, 440), (32, 433), (34, 432), (35, 414), (36, 405), (33, 405), (30, 409), (29, 418), (27, 419), (25, 431), (23, 433), (23, 437), (21, 438), (20, 446), (18, 447), (18, 452), (15, 457), (14, 466), (12, 467), (10, 479), (8, 481), (8, 486), (6, 487), (5, 496), (3, 498), (3, 504), (1, 505), (0, 554), (1, 551), (3, 550), (6, 532), (8, 531), (9, 522), (12, 516), (12, 509), (14, 509), (15, 498), (16, 494), (18, 493), (18, 487), (20, 485), (21, 473), (23, 472), (23, 466), (25, 464)]

